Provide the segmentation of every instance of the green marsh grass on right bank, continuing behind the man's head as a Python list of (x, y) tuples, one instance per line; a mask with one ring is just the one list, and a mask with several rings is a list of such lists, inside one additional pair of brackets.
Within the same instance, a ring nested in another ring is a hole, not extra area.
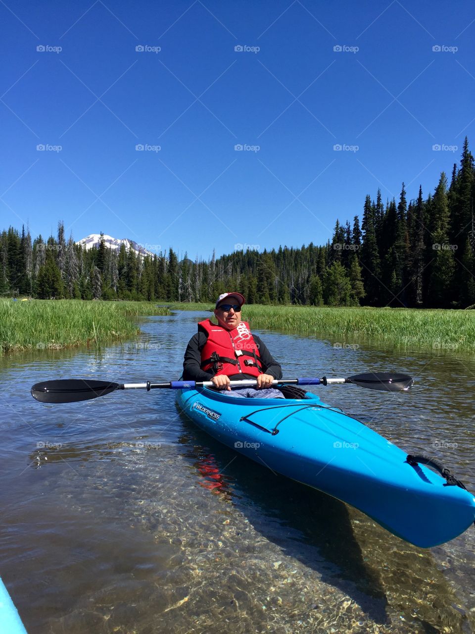
[[(170, 308), (205, 311), (213, 306), (172, 304)], [(475, 311), (244, 304), (243, 320), (249, 321), (251, 327), (263, 330), (475, 353)]]

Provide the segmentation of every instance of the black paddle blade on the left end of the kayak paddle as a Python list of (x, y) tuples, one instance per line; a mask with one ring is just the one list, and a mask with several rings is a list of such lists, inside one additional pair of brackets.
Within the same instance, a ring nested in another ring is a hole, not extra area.
[(75, 403), (76, 401), (89, 401), (89, 399), (104, 396), (117, 390), (118, 387), (118, 383), (84, 378), (66, 378), (36, 383), (31, 389), (31, 395), (41, 403)]

